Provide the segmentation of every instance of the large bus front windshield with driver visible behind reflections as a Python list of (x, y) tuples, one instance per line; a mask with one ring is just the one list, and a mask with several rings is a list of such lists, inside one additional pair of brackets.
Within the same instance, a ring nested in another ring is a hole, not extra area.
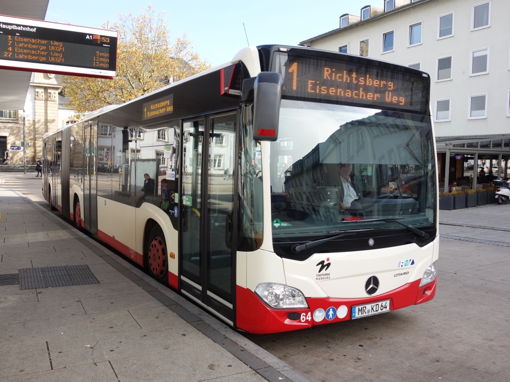
[(391, 218), (431, 229), (435, 178), (430, 117), (282, 100), (270, 144), (273, 238), (403, 229)]

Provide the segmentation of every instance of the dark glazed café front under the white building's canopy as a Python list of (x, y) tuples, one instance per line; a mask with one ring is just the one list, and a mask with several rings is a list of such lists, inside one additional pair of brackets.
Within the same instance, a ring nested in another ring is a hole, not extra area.
[(510, 177), (510, 134), (436, 139), (439, 190), (489, 188)]

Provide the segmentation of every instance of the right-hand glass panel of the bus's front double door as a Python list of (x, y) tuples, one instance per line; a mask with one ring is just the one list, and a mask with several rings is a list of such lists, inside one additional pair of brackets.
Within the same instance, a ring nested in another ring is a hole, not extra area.
[(232, 302), (236, 115), (211, 119), (208, 166), (208, 289)]

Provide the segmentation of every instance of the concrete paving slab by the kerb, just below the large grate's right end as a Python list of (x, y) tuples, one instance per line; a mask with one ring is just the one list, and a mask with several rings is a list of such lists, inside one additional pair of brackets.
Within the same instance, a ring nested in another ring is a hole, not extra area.
[(87, 314), (163, 306), (156, 298), (143, 291), (115, 296), (87, 297), (80, 300)]

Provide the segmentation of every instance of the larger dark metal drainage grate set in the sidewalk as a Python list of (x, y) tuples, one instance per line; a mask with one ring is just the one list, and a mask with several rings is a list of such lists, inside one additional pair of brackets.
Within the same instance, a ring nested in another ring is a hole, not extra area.
[(19, 269), (19, 289), (99, 284), (88, 265)]

